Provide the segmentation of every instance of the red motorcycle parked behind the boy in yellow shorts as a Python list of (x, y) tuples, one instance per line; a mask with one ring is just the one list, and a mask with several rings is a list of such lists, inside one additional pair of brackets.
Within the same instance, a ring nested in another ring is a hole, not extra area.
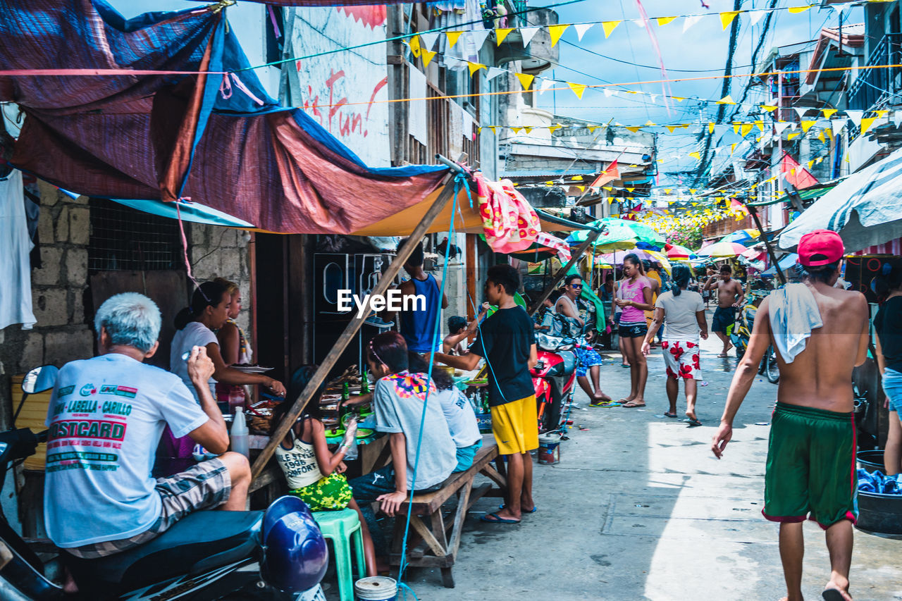
[(536, 336), (538, 362), (529, 370), (538, 403), (539, 433), (563, 430), (565, 409), (573, 402), (576, 366), (575, 347), (586, 347), (573, 337)]

